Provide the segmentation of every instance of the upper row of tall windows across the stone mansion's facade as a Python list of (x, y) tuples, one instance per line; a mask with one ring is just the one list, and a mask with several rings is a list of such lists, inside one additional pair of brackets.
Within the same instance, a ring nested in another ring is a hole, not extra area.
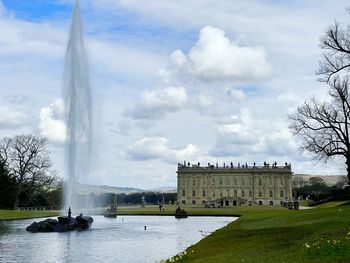
[[(192, 186), (196, 186), (197, 181), (199, 183), (201, 179), (192, 178), (189, 180), (192, 180)], [(226, 180), (224, 178), (211, 178), (211, 185), (212, 186), (223, 186), (223, 185), (230, 186), (231, 183), (233, 183), (233, 185), (238, 185), (238, 182), (240, 182), (240, 185), (245, 185), (246, 183), (248, 185), (253, 185), (253, 178), (249, 177), (248, 181), (246, 180), (246, 178), (233, 178), (232, 179), (232, 178), (228, 177), (228, 178), (226, 178)], [(269, 177), (268, 182), (269, 182), (269, 185), (272, 186), (274, 183), (273, 178)], [(284, 186), (284, 183), (285, 183), (284, 178), (280, 178), (279, 182), (280, 182), (280, 186)], [(202, 185), (206, 186), (206, 183), (207, 183), (206, 179), (202, 179)], [(258, 180), (258, 185), (259, 186), (263, 185), (263, 179), (261, 177)], [(182, 179), (182, 186), (186, 186), (186, 179)]]

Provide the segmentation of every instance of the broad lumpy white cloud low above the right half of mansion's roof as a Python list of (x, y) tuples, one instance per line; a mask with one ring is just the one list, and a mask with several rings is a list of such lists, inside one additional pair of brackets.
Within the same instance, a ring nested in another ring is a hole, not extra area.
[(217, 140), (211, 150), (213, 156), (289, 156), (295, 158), (297, 146), (284, 123), (269, 119), (254, 119), (250, 110), (243, 108), (227, 123), (217, 128)]

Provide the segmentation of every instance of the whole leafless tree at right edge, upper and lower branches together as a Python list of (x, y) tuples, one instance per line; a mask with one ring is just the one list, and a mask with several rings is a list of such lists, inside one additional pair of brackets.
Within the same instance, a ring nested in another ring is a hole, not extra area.
[(350, 181), (350, 27), (337, 22), (321, 37), (324, 50), (317, 74), (319, 81), (329, 85), (330, 101), (311, 99), (290, 116), (289, 126), (294, 136), (301, 138), (302, 151), (327, 162), (340, 156), (347, 166)]

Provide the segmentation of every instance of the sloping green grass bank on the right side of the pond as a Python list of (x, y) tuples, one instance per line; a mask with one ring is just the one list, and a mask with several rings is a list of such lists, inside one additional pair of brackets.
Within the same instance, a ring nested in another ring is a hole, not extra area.
[(350, 262), (349, 205), (333, 203), (300, 211), (232, 210), (242, 215), (236, 222), (171, 262)]

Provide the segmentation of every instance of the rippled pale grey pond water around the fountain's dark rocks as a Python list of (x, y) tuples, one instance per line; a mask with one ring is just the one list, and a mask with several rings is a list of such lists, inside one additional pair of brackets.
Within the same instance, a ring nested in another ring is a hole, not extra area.
[(29, 233), (25, 228), (34, 219), (0, 222), (0, 262), (154, 263), (184, 251), (237, 219), (175, 219), (173, 216), (93, 218), (90, 230), (66, 233)]

